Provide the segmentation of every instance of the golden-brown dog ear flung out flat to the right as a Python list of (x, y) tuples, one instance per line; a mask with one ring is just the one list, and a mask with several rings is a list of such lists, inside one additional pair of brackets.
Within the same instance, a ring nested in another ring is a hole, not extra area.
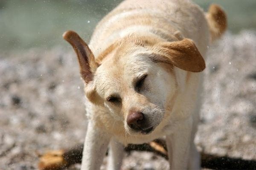
[(154, 46), (153, 58), (158, 62), (170, 63), (182, 70), (201, 72), (205, 68), (204, 58), (190, 39), (174, 42), (160, 42)]

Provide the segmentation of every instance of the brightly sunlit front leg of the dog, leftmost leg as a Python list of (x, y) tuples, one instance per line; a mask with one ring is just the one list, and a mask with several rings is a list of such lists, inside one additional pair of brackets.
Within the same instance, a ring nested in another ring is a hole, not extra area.
[(88, 123), (84, 141), (81, 170), (99, 170), (106, 154), (111, 136)]

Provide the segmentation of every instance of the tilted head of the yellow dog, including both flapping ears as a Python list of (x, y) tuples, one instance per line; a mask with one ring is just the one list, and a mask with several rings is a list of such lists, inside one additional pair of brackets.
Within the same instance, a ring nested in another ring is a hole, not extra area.
[(192, 40), (164, 42), (130, 35), (112, 44), (95, 59), (73, 31), (64, 33), (76, 51), (85, 95), (123, 121), (129, 134), (148, 134), (159, 125), (177, 96), (175, 67), (200, 72), (205, 62)]

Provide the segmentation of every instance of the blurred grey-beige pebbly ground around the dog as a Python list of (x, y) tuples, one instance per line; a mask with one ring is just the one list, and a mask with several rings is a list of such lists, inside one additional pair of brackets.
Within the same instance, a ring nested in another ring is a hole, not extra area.
[[(198, 149), (256, 160), (256, 32), (227, 33), (209, 46), (204, 72)], [(71, 47), (0, 53), (0, 96), (0, 169), (37, 169), (38, 154), (83, 142), (83, 84)], [(153, 153), (132, 152), (122, 170), (168, 166)]]

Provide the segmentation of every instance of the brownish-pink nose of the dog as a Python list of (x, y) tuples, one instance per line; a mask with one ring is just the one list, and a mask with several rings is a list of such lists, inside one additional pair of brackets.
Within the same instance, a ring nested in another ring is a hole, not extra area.
[(143, 123), (143, 113), (141, 112), (131, 112), (129, 113), (128, 117), (127, 117), (127, 124), (129, 127), (131, 127), (134, 130), (141, 130), (141, 125)]

